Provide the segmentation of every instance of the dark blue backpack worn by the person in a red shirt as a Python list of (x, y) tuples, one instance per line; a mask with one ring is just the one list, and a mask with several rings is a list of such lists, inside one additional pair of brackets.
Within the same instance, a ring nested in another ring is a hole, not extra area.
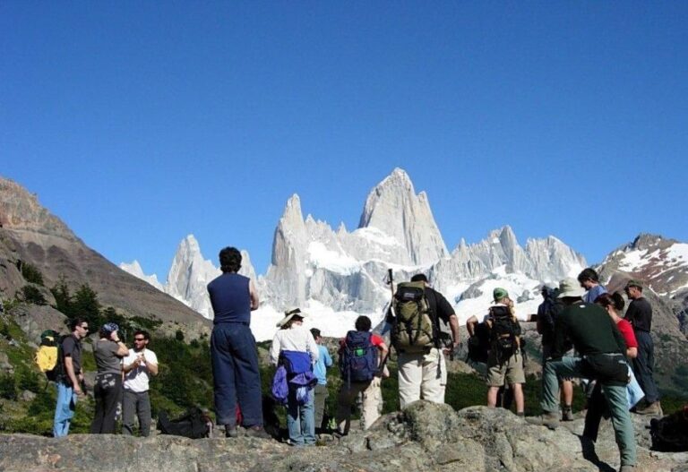
[(370, 382), (378, 372), (378, 350), (372, 333), (348, 331), (340, 349), (340, 373), (347, 382)]

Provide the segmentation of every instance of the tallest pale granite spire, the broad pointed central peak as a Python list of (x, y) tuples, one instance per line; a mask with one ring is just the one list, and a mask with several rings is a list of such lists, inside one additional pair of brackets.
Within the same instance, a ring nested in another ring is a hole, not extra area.
[(368, 193), (358, 227), (376, 227), (405, 246), (409, 260), (398, 263), (432, 264), (449, 255), (426, 193), (416, 194), (399, 167)]

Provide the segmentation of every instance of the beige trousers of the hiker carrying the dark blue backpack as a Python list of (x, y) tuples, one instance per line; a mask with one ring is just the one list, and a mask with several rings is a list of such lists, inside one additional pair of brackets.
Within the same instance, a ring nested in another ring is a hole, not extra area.
[(383, 403), (383, 391), (380, 388), (380, 378), (375, 377), (371, 382), (345, 381), (341, 385), (340, 395), (337, 399), (337, 429), (342, 434), (347, 434), (351, 426), (351, 405), (359, 394), (363, 394), (363, 411), (361, 412), (361, 425), (363, 429), (372, 426), (380, 417), (380, 407)]

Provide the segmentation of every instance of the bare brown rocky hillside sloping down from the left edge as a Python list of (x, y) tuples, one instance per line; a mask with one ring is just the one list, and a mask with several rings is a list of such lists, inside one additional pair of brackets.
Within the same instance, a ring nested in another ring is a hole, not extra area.
[(0, 291), (5, 298), (26, 284), (17, 262), (29, 262), (43, 274), (47, 287), (60, 277), (73, 289), (88, 283), (102, 305), (128, 316), (156, 317), (168, 330), (208, 330), (208, 321), (198, 313), (107, 261), (43, 208), (36, 195), (2, 177), (0, 223)]

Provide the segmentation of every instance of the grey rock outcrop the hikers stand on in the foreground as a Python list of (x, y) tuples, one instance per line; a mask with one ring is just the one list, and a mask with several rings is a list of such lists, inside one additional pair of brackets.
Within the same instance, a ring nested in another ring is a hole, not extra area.
[[(638, 472), (688, 471), (688, 454), (649, 451), (639, 416)], [(502, 409), (417, 402), (383, 416), (366, 433), (352, 433), (322, 447), (290, 448), (255, 438), (187, 440), (76, 434), (64, 439), (0, 436), (0, 470), (140, 472), (231, 471), (553, 471), (619, 468), (614, 433), (606, 424), (596, 452), (581, 442), (582, 420), (556, 431), (528, 425)]]

